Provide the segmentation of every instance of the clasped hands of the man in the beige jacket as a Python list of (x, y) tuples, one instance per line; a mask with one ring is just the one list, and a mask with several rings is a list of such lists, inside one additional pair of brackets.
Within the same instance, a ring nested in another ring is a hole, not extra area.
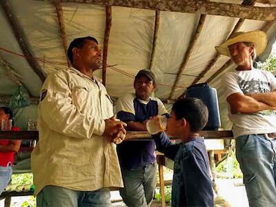
[(127, 124), (123, 121), (119, 121), (119, 119), (116, 119), (115, 116), (104, 121), (106, 122), (106, 128), (103, 132), (104, 137), (109, 137), (112, 141), (113, 139), (115, 139), (115, 137), (117, 137), (119, 132), (123, 135), (126, 135), (126, 130), (124, 126), (126, 126)]

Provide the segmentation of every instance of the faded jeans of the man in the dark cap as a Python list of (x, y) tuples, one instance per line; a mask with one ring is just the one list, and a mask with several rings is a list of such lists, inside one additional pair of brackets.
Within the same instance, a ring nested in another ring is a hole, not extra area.
[(124, 188), (120, 190), (126, 206), (150, 206), (156, 188), (156, 163), (140, 168), (121, 169)]

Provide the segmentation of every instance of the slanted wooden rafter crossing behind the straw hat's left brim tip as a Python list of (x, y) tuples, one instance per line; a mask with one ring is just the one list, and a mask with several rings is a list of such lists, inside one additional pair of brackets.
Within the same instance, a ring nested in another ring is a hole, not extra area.
[[(242, 5), (248, 5), (248, 6), (253, 6), (256, 0), (244, 0), (242, 2)], [(239, 31), (239, 28), (241, 28), (242, 24), (244, 23), (245, 19), (239, 19), (239, 21), (236, 23), (235, 28), (233, 29), (233, 31), (231, 32), (231, 34), (229, 35), (228, 39), (237, 31)], [(215, 57), (213, 58), (212, 61), (210, 61), (210, 63), (208, 64), (208, 66), (199, 74), (199, 76), (195, 79), (195, 81), (193, 81), (193, 84), (196, 84), (198, 81), (201, 80), (201, 78), (204, 77), (204, 75), (206, 75), (206, 73), (213, 68), (213, 66), (215, 66), (215, 63), (217, 62), (217, 60), (219, 59), (219, 57), (221, 57), (221, 55), (219, 53), (216, 53)]]

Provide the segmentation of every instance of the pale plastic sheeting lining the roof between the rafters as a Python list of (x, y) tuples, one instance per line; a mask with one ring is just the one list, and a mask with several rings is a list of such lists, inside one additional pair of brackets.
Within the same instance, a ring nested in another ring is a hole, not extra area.
[[(222, 0), (216, 0), (222, 1)], [(241, 3), (242, 1), (224, 1)], [(64, 52), (54, 4), (48, 1), (17, 0), (8, 1), (10, 8), (27, 39), (32, 54), (37, 58), (43, 71), (48, 74), (55, 70), (67, 68), (66, 53)], [(258, 5), (259, 6), (259, 5)], [(83, 3), (62, 3), (63, 19), (66, 27), (68, 44), (72, 39), (91, 35), (98, 39), (103, 46), (106, 26), (105, 7)], [(23, 54), (17, 39), (10, 28), (6, 15), (0, 10), (0, 47)], [(185, 57), (189, 44), (197, 29), (200, 14), (160, 12), (159, 32), (156, 41), (156, 52), (152, 62), (152, 72), (157, 77), (158, 87), (155, 96), (167, 99), (177, 77), (179, 67)], [(211, 16), (206, 17), (204, 26), (199, 34), (195, 48), (183, 72), (172, 98), (181, 95), (190, 86), (210, 61), (216, 55), (215, 46), (228, 38), (237, 23), (237, 18)], [(152, 52), (152, 41), (155, 25), (155, 11), (135, 8), (112, 7), (112, 26), (109, 37), (108, 65), (106, 88), (112, 97), (119, 97), (133, 91), (133, 79), (138, 70), (148, 68)], [(262, 28), (263, 21), (246, 20), (242, 31)], [(275, 41), (276, 24), (268, 30), (269, 45)], [(268, 46), (269, 50), (269, 46)], [(268, 52), (265, 52), (267, 55)], [(30, 92), (32, 97), (39, 97), (41, 81), (30, 68), (26, 58), (0, 50), (0, 55), (8, 61), (14, 74)], [(261, 57), (262, 59), (262, 57)], [(228, 61), (221, 56), (213, 68), (199, 82), (209, 79), (214, 72)], [(233, 70), (230, 66), (227, 70)], [(101, 78), (101, 70), (95, 72)], [(221, 83), (218, 76), (211, 82), (219, 94), (221, 123), (229, 128), (225, 100), (221, 97)], [(17, 88), (7, 76), (6, 70), (0, 64), (0, 95), (12, 95)], [(168, 110), (171, 104), (166, 104)], [(28, 119), (36, 119), (37, 106), (28, 106), (16, 111), (17, 125), (26, 129)]]

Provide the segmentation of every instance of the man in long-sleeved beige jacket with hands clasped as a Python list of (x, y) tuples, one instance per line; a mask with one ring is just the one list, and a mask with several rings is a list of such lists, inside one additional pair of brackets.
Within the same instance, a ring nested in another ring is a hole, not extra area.
[(72, 68), (50, 74), (41, 88), (31, 159), (37, 206), (111, 206), (109, 188), (123, 187), (112, 140), (126, 130), (93, 77), (101, 67), (97, 40), (75, 39), (68, 58)]

